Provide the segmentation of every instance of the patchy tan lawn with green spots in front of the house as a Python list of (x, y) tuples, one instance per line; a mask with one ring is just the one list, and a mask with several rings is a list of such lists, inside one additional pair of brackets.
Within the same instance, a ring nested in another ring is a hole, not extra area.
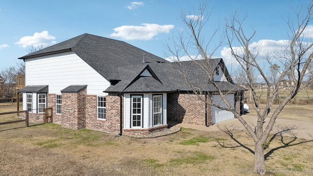
[[(254, 155), (247, 150), (254, 150), (253, 140), (244, 131), (231, 134), (240, 144), (224, 132), (182, 129), (137, 139), (38, 125), (0, 132), (0, 170), (16, 176), (239, 176), (240, 169), (253, 168)], [(312, 142), (276, 136), (266, 153), (268, 169), (312, 169)]]

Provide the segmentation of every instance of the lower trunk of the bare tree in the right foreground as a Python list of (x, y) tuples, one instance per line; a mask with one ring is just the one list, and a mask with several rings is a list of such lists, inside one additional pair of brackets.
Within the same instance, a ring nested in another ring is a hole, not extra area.
[(262, 143), (255, 142), (254, 147), (254, 168), (253, 170), (260, 174), (260, 176), (265, 175), (265, 160), (264, 160), (264, 148)]

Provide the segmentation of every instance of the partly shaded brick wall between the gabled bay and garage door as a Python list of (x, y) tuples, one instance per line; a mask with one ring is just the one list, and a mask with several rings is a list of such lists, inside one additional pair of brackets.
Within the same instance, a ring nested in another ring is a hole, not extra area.
[[(204, 98), (204, 95), (202, 95)], [(205, 125), (205, 103), (193, 93), (167, 94), (167, 120)], [(207, 106), (207, 124), (212, 125), (212, 108)]]

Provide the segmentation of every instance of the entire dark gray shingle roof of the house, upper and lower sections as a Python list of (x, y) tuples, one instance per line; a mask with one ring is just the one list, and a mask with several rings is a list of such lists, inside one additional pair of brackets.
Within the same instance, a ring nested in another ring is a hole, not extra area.
[[(74, 52), (108, 81), (115, 81), (105, 90), (106, 92), (166, 92), (178, 89), (192, 91), (180, 73), (183, 70), (186, 71), (190, 82), (199, 90), (216, 91), (216, 88), (209, 83), (209, 76), (193, 61), (180, 62), (181, 66), (179, 66), (177, 63), (170, 63), (131, 44), (90, 34), (74, 37), (19, 59), (68, 51)], [(145, 62), (143, 62), (144, 54)], [(245, 90), (233, 84), (223, 59), (211, 59), (208, 63), (204, 60), (196, 62), (201, 66), (210, 65), (212, 68), (216, 68), (219, 64), (222, 66), (228, 80), (228, 82), (218, 83), (222, 90)], [(152, 77), (140, 76), (145, 69), (149, 70)], [(77, 92), (85, 86), (72, 85), (62, 91)]]

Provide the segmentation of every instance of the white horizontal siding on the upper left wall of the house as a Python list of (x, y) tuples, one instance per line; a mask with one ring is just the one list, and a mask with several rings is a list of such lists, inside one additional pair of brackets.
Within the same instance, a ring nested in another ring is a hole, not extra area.
[(48, 93), (54, 94), (60, 94), (69, 85), (88, 85), (87, 94), (106, 95), (103, 90), (110, 86), (110, 82), (73, 52), (26, 59), (25, 72), (26, 86), (45, 83), (49, 86)]

